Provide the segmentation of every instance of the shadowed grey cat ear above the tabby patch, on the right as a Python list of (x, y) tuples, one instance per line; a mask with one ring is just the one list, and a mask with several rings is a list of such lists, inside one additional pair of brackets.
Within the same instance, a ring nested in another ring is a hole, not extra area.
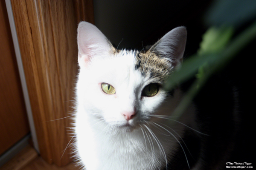
[(186, 27), (177, 27), (165, 34), (150, 50), (172, 62), (177, 67), (183, 61), (186, 46)]

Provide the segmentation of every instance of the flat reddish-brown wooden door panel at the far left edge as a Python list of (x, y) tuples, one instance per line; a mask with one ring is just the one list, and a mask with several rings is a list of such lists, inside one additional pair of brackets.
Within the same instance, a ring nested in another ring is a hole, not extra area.
[(12, 34), (0, 1), (0, 155), (29, 133)]

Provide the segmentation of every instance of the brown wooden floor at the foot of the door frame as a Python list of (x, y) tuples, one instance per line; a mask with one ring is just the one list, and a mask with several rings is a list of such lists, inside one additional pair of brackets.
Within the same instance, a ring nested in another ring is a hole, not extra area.
[(64, 167), (48, 164), (44, 161), (33, 147), (28, 145), (15, 157), (7, 162), (0, 170), (81, 170), (76, 164), (70, 163)]

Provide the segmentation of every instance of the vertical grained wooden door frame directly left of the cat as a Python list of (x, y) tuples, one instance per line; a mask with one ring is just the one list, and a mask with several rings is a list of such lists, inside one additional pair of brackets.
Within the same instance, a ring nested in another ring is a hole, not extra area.
[[(77, 73), (76, 28), (94, 22), (93, 0), (11, 0), (40, 154), (70, 159), (70, 116)], [(56, 120), (58, 119), (58, 120)], [(55, 120), (55, 121), (53, 121)]]

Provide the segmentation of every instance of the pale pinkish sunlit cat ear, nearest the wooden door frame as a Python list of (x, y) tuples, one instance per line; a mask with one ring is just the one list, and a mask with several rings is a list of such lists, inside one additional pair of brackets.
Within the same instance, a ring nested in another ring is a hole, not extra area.
[(77, 29), (78, 62), (86, 67), (97, 55), (105, 55), (111, 50), (111, 43), (99, 29), (91, 23), (81, 22)]

